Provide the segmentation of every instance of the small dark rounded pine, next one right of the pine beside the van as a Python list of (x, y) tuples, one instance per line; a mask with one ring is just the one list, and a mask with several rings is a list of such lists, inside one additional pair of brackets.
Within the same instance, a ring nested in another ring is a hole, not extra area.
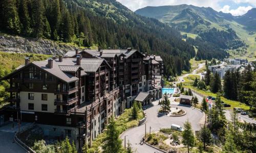
[(204, 144), (204, 149), (206, 145), (210, 145), (212, 141), (211, 132), (205, 125), (201, 127), (199, 131), (199, 140)]

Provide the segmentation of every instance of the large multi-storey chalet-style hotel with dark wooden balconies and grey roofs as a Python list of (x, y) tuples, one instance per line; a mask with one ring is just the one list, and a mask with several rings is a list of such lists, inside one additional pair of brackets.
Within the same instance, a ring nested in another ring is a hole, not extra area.
[[(1, 80), (10, 88), (6, 118), (35, 122), (45, 135), (70, 137), (80, 148), (111, 116), (162, 97), (163, 61), (138, 50), (75, 50), (47, 61), (20, 65)], [(9, 116), (8, 116), (9, 115)]]

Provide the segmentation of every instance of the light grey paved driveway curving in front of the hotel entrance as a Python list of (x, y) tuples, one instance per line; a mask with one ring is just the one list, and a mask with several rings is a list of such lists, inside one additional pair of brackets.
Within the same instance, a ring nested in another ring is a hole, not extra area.
[[(159, 105), (154, 105), (153, 107), (147, 108), (145, 110), (147, 114), (146, 122), (146, 132), (150, 132), (150, 126), (152, 127), (151, 132), (159, 131), (160, 128), (170, 127), (172, 124), (183, 125), (183, 123), (188, 120), (191, 122), (193, 130), (200, 130), (199, 121), (203, 117), (203, 113), (197, 109), (191, 107), (185, 107), (180, 105), (171, 105), (172, 107), (178, 107), (187, 112), (186, 115), (181, 117), (170, 117), (170, 116), (158, 116)], [(126, 136), (126, 143), (130, 141), (134, 151), (136, 152), (155, 152), (159, 151), (145, 144), (140, 145), (141, 138), (145, 135), (145, 124), (135, 127), (129, 131), (124, 132), (121, 138), (124, 140)], [(124, 141), (123, 141), (124, 144)], [(161, 152), (161, 151), (159, 151)]]

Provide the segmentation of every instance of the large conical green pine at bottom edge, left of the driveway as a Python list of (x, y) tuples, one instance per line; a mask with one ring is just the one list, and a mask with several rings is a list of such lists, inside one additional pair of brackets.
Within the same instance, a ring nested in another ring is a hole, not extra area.
[(122, 140), (119, 138), (119, 131), (117, 130), (116, 121), (114, 117), (110, 119), (110, 124), (106, 130), (105, 143), (103, 144), (103, 152), (121, 152), (122, 151)]

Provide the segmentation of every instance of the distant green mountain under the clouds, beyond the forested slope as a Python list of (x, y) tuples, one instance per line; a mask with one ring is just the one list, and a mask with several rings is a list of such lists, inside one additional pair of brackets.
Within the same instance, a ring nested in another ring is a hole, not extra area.
[[(251, 9), (242, 16), (232, 16), (230, 13), (217, 12), (209, 7), (177, 5), (145, 7), (135, 13), (169, 24), (181, 31), (185, 39), (197, 37), (196, 41), (190, 40), (190, 44), (197, 42), (193, 45), (202, 45), (206, 41), (207, 46), (211, 45), (208, 49), (225, 49), (231, 56), (243, 58), (255, 56), (256, 9)], [(209, 52), (208, 49), (205, 48), (204, 52)]]

